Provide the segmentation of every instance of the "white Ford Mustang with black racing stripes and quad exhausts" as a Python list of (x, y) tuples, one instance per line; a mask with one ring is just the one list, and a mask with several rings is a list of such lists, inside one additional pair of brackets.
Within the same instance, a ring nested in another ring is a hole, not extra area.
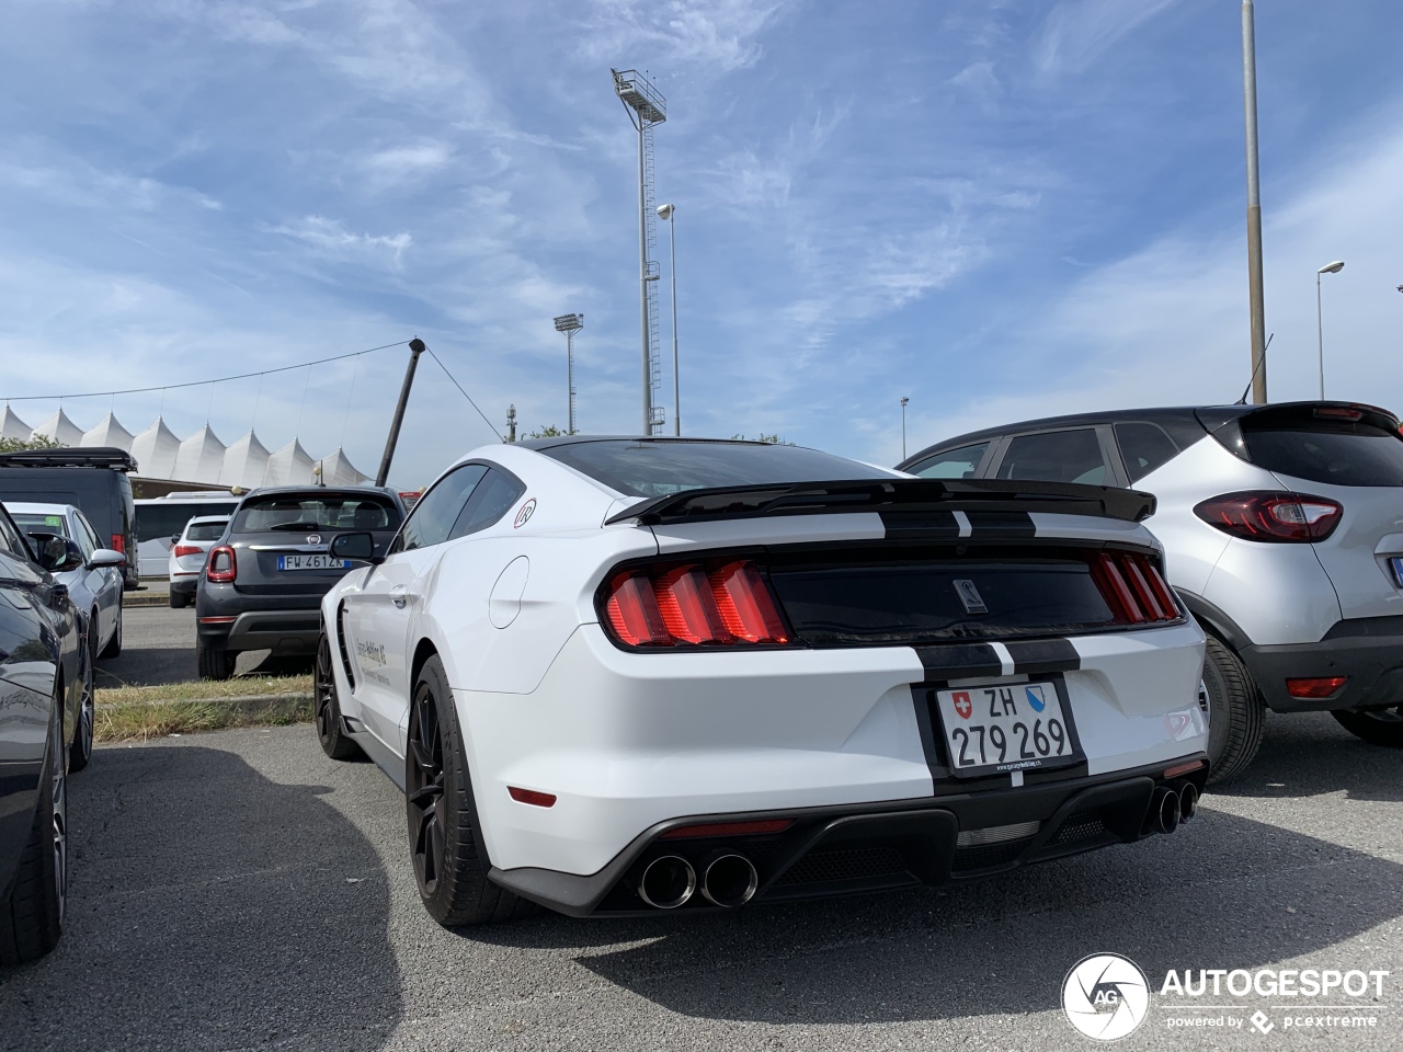
[(1153, 497), (810, 449), (483, 447), (327, 593), (317, 732), (456, 926), (988, 877), (1193, 815), (1204, 637)]

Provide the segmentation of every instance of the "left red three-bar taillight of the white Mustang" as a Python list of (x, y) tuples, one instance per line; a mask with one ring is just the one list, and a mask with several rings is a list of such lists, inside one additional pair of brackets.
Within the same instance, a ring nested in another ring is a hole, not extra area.
[(616, 574), (600, 600), (603, 624), (623, 647), (787, 644), (791, 634), (759, 568), (671, 564)]

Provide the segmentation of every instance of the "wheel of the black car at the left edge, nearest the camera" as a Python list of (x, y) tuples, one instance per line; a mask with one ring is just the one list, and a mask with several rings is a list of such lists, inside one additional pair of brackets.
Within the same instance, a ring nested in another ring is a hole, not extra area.
[(34, 961), (53, 950), (69, 898), (67, 778), (63, 693), (53, 699), (39, 802), (10, 893), (0, 898), (0, 965)]

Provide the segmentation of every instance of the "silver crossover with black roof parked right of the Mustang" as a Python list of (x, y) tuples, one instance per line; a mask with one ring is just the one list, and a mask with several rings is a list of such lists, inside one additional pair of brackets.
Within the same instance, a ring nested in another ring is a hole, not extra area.
[(1386, 410), (1310, 401), (1056, 417), (961, 435), (899, 467), (1157, 498), (1146, 525), (1208, 634), (1212, 781), (1251, 762), (1266, 708), (1330, 711), (1364, 741), (1403, 748), (1403, 436)]

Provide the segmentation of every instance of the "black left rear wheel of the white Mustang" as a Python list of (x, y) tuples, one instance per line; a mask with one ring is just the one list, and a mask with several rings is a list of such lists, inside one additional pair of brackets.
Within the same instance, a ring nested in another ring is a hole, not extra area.
[(414, 683), (404, 750), (410, 857), (424, 908), (445, 927), (511, 920), (533, 903), (487, 879), (463, 739), (443, 662), (431, 656)]

